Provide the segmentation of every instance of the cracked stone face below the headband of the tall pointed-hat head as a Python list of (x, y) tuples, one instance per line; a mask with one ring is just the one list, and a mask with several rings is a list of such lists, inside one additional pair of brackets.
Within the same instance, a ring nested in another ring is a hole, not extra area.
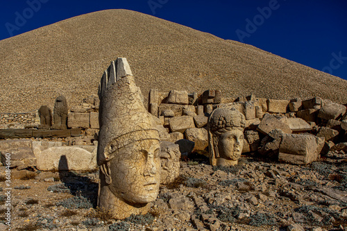
[(117, 150), (110, 164), (110, 190), (131, 203), (149, 203), (160, 186), (160, 145), (156, 139), (137, 141)]

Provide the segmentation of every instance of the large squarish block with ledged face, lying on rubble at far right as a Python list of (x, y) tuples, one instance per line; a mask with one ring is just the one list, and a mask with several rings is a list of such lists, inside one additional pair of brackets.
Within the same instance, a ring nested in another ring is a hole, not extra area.
[(318, 159), (322, 148), (314, 135), (284, 134), (278, 160), (291, 164), (309, 164)]

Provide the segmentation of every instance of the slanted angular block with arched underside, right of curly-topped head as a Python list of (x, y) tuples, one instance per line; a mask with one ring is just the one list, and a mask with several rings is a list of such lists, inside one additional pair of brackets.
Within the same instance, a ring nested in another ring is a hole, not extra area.
[(264, 134), (269, 134), (273, 129), (280, 129), (285, 133), (291, 133), (291, 129), (287, 123), (282, 122), (272, 114), (265, 114), (257, 130)]

